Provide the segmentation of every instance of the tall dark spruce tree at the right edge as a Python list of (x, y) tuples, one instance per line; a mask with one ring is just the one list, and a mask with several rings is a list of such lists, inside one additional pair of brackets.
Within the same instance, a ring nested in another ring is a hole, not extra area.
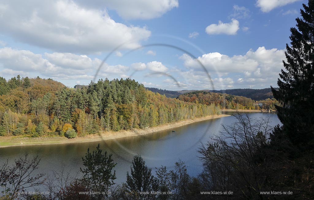
[(306, 148), (314, 141), (314, 0), (303, 8), (296, 28), (290, 29), (291, 46), (286, 45), (279, 91), (272, 87), (272, 92), (282, 104), (276, 108), (284, 134), (292, 144)]

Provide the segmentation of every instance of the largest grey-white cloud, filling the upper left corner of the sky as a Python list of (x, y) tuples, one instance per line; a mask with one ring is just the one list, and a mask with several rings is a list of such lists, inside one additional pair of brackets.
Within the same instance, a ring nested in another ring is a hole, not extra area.
[(105, 8), (84, 8), (71, 0), (5, 0), (0, 13), (1, 34), (58, 52), (89, 54), (121, 44), (132, 49), (151, 34), (145, 27), (115, 22)]

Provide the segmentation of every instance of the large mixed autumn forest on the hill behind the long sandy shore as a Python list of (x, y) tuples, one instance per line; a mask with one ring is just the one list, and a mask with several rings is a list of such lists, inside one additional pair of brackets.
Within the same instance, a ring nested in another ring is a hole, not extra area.
[(220, 114), (214, 104), (167, 98), (131, 79), (68, 88), (50, 78), (18, 75), (8, 81), (0, 77), (0, 86), (0, 135), (74, 138)]

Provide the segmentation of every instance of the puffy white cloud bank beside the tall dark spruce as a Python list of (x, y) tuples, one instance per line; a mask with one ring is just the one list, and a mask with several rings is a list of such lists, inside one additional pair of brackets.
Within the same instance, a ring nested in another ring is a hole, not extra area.
[[(189, 55), (183, 54), (180, 59), (188, 69), (202, 71), (198, 61)], [(208, 69), (216, 73), (242, 73), (246, 77), (277, 77), (283, 68), (282, 61), (285, 60), (284, 50), (259, 47), (256, 51), (252, 49), (245, 55), (223, 55), (218, 52), (204, 54), (198, 60)]]

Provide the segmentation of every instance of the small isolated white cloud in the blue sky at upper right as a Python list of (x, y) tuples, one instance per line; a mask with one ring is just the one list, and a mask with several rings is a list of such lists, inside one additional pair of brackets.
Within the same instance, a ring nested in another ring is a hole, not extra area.
[(222, 23), (221, 21), (218, 24), (210, 24), (206, 27), (205, 31), (207, 34), (227, 34), (235, 35), (239, 30), (239, 21), (236, 19), (231, 19), (230, 23)]

